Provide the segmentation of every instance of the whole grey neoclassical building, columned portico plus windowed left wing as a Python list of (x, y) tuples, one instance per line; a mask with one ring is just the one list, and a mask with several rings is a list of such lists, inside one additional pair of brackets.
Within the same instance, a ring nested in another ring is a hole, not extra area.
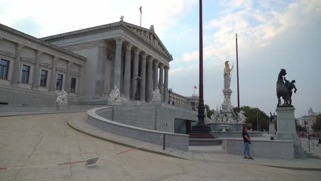
[[(122, 19), (45, 38), (0, 24), (0, 104), (53, 105), (61, 90), (69, 104), (106, 104), (114, 88), (121, 101), (142, 104), (159, 88), (167, 102), (171, 60), (153, 26)], [(195, 110), (193, 98), (171, 93), (182, 108)]]

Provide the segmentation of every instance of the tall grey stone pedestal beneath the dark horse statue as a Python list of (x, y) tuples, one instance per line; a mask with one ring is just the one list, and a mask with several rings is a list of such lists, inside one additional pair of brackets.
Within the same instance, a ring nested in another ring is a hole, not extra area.
[(296, 123), (294, 117), (294, 107), (279, 107), (276, 108), (278, 116), (276, 140), (293, 141), (294, 157), (305, 158), (305, 152), (301, 146), (301, 141), (296, 134)]

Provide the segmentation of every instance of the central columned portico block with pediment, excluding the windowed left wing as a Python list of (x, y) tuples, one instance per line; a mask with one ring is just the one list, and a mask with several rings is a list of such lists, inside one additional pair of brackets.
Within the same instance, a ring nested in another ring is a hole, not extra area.
[(173, 60), (154, 29), (124, 21), (41, 38), (87, 58), (83, 101), (108, 98), (119, 88), (127, 100), (149, 102), (160, 89), (168, 100), (169, 62)]

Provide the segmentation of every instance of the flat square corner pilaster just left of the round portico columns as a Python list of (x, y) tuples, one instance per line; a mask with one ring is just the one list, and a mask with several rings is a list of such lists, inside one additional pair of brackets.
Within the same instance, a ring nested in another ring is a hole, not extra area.
[(98, 42), (98, 60), (96, 68), (96, 80), (95, 80), (95, 94), (102, 96), (105, 88), (105, 71), (106, 71), (106, 43), (105, 40), (99, 40)]

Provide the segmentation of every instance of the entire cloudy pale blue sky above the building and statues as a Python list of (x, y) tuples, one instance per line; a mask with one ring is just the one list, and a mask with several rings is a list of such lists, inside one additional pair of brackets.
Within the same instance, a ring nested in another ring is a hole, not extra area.
[[(197, 0), (19, 1), (0, 0), (0, 23), (37, 38), (124, 21), (154, 25), (173, 55), (169, 88), (191, 96), (198, 86), (199, 5)], [(237, 106), (235, 33), (239, 51), (241, 106), (276, 109), (281, 69), (296, 80), (296, 117), (321, 111), (320, 0), (203, 0), (204, 101), (216, 109), (224, 99), (224, 62), (234, 65), (232, 104)], [(198, 91), (198, 90), (196, 90)]]

